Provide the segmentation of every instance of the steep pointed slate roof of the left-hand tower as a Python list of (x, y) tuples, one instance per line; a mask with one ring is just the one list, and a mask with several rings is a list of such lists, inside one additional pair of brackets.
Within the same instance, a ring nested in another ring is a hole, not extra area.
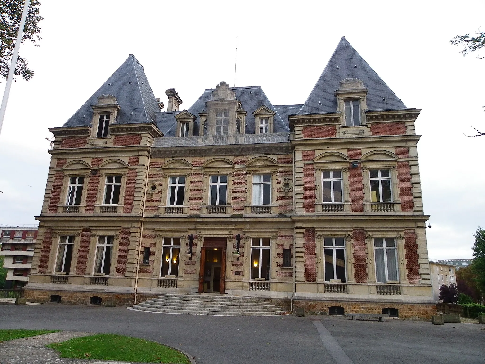
[[(160, 111), (157, 99), (146, 79), (143, 66), (130, 54), (127, 60), (97, 89), (63, 126), (84, 126), (91, 124), (93, 109), (99, 95), (116, 97), (120, 110), (116, 123), (149, 123), (155, 121), (155, 113)], [(132, 114), (131, 114), (132, 113)], [(84, 116), (84, 117), (83, 117)]]

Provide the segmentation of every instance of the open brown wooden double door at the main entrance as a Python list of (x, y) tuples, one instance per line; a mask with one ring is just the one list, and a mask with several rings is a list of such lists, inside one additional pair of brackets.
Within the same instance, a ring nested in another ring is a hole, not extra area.
[(204, 238), (204, 244), (200, 250), (199, 293), (224, 294), (226, 290), (226, 259), (226, 238)]

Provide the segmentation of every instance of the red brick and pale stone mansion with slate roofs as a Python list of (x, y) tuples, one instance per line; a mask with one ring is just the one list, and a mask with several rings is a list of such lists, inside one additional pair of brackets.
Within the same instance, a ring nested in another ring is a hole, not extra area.
[(188, 109), (166, 95), (164, 111), (129, 55), (50, 129), (29, 300), (219, 292), (314, 313), (434, 312), (420, 109), (345, 38), (304, 104), (225, 82)]

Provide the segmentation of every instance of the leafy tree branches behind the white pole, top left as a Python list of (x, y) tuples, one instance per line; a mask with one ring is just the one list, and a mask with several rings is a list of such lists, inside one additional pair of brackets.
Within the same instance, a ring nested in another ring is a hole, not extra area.
[[(5, 80), (12, 62), (23, 5), (23, 0), (0, 0), (0, 73)], [(35, 47), (39, 46), (37, 41), (41, 39), (38, 23), (43, 19), (39, 16), (39, 6), (40, 2), (30, 0), (22, 36), (22, 43), (31, 41)], [(27, 60), (18, 56), (14, 75), (21, 75), (25, 81), (29, 81), (33, 76), (33, 71), (27, 65)]]

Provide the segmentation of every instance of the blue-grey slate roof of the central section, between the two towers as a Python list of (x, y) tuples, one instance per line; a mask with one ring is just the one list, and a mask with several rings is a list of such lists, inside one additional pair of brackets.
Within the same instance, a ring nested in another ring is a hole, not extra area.
[[(231, 87), (231, 89), (236, 93), (236, 99), (241, 101), (242, 108), (247, 112), (246, 124), (247, 128), (244, 130), (246, 134), (254, 134), (254, 116), (253, 112), (258, 110), (261, 106), (265, 105), (269, 109), (276, 112), (273, 118), (273, 132), (289, 132), (290, 128), (288, 126), (288, 117), (282, 118), (278, 110), (273, 106), (267, 96), (264, 94), (261, 86), (248, 86), (248, 87)], [(200, 128), (200, 116), (199, 113), (207, 112), (207, 101), (210, 100), (213, 88), (207, 88), (204, 93), (194, 102), (194, 104), (187, 110), (194, 116), (196, 116), (194, 124), (194, 135), (199, 134)], [(290, 105), (293, 106), (293, 105)], [(301, 107), (301, 105), (299, 105)], [(281, 107), (281, 106), (280, 106)], [(298, 107), (298, 110), (300, 109)], [(175, 116), (182, 112), (179, 111), (168, 111), (168, 112), (158, 112), (157, 113), (157, 126), (163, 132), (164, 137), (175, 136), (175, 125), (177, 120)], [(296, 111), (295, 111), (296, 113)], [(288, 114), (287, 114), (288, 115)]]

